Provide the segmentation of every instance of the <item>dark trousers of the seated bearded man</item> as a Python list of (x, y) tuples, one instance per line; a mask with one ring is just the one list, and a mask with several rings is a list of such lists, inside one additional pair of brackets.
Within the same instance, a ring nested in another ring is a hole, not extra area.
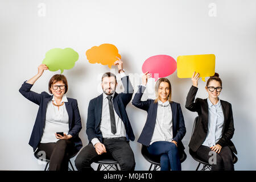
[(133, 171), (135, 168), (135, 159), (133, 150), (131, 150), (129, 142), (121, 139), (104, 139), (102, 142), (106, 148), (106, 153), (98, 155), (92, 143), (82, 148), (75, 160), (76, 168), (79, 171), (93, 171), (90, 166), (93, 162), (104, 159), (111, 155), (117, 162), (121, 170)]

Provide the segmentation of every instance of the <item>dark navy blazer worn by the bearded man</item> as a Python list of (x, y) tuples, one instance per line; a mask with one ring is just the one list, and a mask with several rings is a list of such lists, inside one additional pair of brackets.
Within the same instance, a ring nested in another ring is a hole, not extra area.
[[(133, 97), (133, 86), (129, 80), (129, 76), (122, 77), (122, 84), (124, 87), (124, 91), (122, 93), (116, 93), (113, 97), (113, 106), (114, 110), (122, 119), (123, 124), (125, 125), (126, 130), (126, 138), (127, 140), (133, 141), (135, 139), (133, 129), (131, 128), (131, 124), (126, 113), (126, 106), (131, 101), (131, 97)], [(100, 142), (102, 142), (102, 133), (100, 130), (101, 123), (101, 114), (102, 114), (102, 101), (103, 101), (103, 93), (90, 100), (88, 106), (88, 117), (86, 123), (86, 134), (88, 136), (89, 142), (93, 138), (98, 138)]]

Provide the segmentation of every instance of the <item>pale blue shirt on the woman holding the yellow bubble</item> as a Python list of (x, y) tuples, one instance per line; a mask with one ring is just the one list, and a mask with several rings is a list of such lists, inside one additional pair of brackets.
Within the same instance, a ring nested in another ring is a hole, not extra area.
[(208, 102), (208, 132), (204, 140), (203, 146), (215, 146), (218, 140), (222, 137), (222, 128), (224, 123), (224, 114), (221, 107), (221, 102), (218, 100), (216, 105), (213, 105), (207, 98)]

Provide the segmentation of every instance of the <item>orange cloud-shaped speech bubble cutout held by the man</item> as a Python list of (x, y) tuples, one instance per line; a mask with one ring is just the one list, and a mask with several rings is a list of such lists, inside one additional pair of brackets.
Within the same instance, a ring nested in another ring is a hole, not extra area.
[(86, 51), (86, 57), (89, 60), (89, 63), (108, 65), (109, 68), (111, 68), (112, 65), (114, 65), (114, 62), (118, 60), (117, 57), (121, 59), (117, 47), (113, 44), (94, 46)]

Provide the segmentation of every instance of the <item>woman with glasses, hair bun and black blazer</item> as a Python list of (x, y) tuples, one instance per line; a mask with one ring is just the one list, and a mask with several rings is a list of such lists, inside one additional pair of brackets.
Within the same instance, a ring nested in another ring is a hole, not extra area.
[[(230, 140), (234, 134), (232, 106), (229, 102), (220, 100), (222, 81), (215, 73), (211, 76), (205, 90), (208, 98), (196, 98), (199, 73), (193, 73), (192, 86), (188, 92), (185, 107), (197, 112), (199, 118), (196, 122), (189, 148), (204, 162), (212, 164), (213, 171), (234, 171), (233, 152), (237, 154), (236, 147)], [(216, 160), (212, 161), (212, 152), (216, 153)]]

